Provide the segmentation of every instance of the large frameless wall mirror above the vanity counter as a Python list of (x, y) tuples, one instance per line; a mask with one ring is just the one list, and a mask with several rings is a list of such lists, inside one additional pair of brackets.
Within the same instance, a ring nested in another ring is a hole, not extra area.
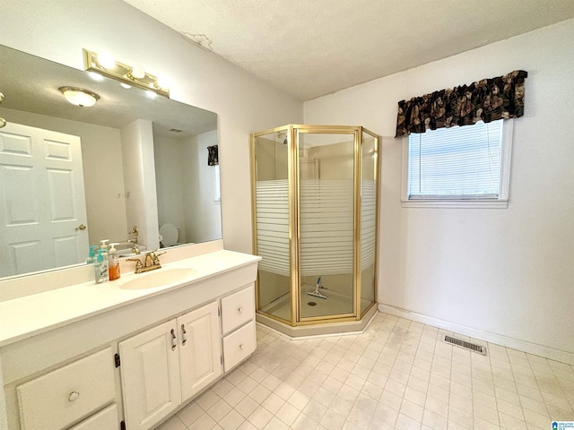
[[(216, 114), (9, 47), (0, 76), (0, 278), (85, 262), (102, 239), (129, 254), (222, 238)], [(100, 99), (73, 106), (64, 86)]]

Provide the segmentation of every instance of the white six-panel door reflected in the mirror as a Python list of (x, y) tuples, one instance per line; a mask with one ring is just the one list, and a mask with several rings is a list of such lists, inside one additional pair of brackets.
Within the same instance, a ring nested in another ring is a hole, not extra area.
[(83, 262), (88, 250), (80, 138), (0, 130), (0, 277)]

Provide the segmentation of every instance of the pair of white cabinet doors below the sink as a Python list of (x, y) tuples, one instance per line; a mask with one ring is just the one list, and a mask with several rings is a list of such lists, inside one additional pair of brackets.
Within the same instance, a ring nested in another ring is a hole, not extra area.
[(218, 302), (119, 343), (126, 426), (146, 429), (222, 374)]

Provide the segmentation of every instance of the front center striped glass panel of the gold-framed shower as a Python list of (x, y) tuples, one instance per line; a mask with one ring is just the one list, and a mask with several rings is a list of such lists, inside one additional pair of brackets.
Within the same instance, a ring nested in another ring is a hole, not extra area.
[(354, 133), (297, 132), (300, 321), (352, 316)]

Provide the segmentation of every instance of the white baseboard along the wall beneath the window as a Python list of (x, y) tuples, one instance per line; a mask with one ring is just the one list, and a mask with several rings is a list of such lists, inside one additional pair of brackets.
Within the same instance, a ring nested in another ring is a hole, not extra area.
[(544, 345), (538, 345), (526, 340), (510, 338), (501, 334), (492, 333), (491, 331), (474, 329), (462, 324), (451, 323), (433, 316), (417, 314), (415, 312), (410, 312), (391, 305), (384, 305), (382, 303), (378, 304), (378, 311), (406, 318), (407, 320), (412, 320), (416, 323), (423, 323), (439, 329), (457, 332), (474, 339), (486, 340), (487, 342), (491, 342), (502, 347), (517, 349), (529, 354), (534, 354), (535, 356), (550, 358), (551, 360), (560, 361), (561, 363), (567, 363), (574, 366), (574, 353), (562, 351), (561, 349), (544, 347)]

